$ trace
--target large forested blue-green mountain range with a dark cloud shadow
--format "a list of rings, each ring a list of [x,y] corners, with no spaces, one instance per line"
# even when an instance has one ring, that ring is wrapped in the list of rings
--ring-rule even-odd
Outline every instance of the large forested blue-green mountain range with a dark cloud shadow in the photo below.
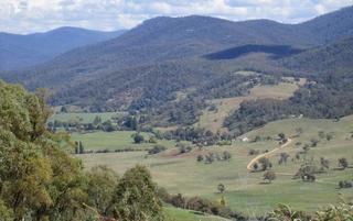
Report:
[[[55,104],[110,110],[135,101],[168,100],[175,91],[201,87],[239,69],[276,75],[320,73],[324,53],[330,53],[330,59],[340,59],[329,48],[351,45],[346,38],[352,36],[353,7],[300,24],[199,15],[156,18],[118,37],[0,76],[30,89],[53,89]],[[350,48],[341,46],[339,53],[350,55]],[[307,65],[298,67],[304,62]],[[352,64],[353,58],[345,56],[343,62]],[[331,71],[336,68],[329,65],[332,60],[324,64]]]

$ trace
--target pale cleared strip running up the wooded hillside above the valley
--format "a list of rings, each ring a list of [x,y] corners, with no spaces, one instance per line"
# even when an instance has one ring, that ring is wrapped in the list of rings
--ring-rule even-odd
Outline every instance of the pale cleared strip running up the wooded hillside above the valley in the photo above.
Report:
[[[208,100],[208,103],[215,104],[217,110],[204,110],[203,114],[200,117],[200,121],[195,125],[212,130],[213,132],[216,132],[217,130],[226,130],[222,128],[224,119],[231,112],[238,109],[243,101],[265,98],[288,99],[297,89],[297,84],[281,82],[274,86],[256,86],[250,90],[250,93],[245,97]]]

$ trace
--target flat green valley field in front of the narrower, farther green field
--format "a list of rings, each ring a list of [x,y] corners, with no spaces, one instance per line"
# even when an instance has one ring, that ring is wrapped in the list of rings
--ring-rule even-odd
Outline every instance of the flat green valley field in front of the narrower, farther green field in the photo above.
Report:
[[[135,144],[131,137],[135,131],[115,131],[115,132],[93,132],[93,133],[73,133],[73,141],[83,142],[86,151],[97,151],[97,150],[122,150],[122,148],[138,148],[147,150],[156,144],[152,143],[141,143]],[[145,140],[148,141],[151,137],[149,133],[141,133]],[[174,141],[158,141],[158,144],[162,144],[165,147],[174,147]]]

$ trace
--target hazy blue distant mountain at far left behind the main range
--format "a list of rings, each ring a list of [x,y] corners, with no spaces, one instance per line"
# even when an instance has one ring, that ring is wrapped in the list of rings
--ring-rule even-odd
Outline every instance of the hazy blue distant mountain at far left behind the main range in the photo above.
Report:
[[[44,63],[75,47],[107,41],[124,32],[99,32],[66,26],[26,35],[0,33],[0,70]]]

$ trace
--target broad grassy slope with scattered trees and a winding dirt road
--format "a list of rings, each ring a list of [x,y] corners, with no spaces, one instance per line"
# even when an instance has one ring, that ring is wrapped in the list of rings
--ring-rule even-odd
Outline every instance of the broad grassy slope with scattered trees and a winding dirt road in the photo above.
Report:
[[[255,136],[277,137],[281,132],[295,135],[298,128],[301,128],[302,133],[284,150],[290,155],[290,159],[296,153],[302,151],[300,146],[310,143],[312,139],[318,139],[319,144],[310,148],[306,158],[313,157],[314,162],[319,162],[322,156],[330,159],[331,169],[327,174],[318,175],[313,184],[292,179],[292,175],[303,163],[303,157],[299,161],[288,161],[286,165],[278,165],[279,153],[276,153],[270,161],[274,164],[277,179],[270,185],[263,184],[263,173],[249,173],[246,169],[247,163],[254,157],[248,155],[248,151],[250,148],[260,152],[274,150],[279,146],[275,140],[256,143],[236,141],[232,146],[195,148],[183,155],[179,155],[174,148],[171,148],[148,157],[143,152],[85,154],[79,157],[87,168],[104,164],[118,173],[124,173],[136,164],[146,165],[151,170],[153,179],[172,194],[181,192],[185,196],[220,200],[221,195],[216,192],[216,187],[222,183],[226,187],[224,196],[227,205],[252,217],[265,214],[278,203],[289,203],[295,209],[312,211],[335,203],[341,197],[353,199],[351,189],[338,189],[339,180],[352,179],[353,169],[334,169],[339,157],[346,157],[350,163],[353,163],[353,117],[341,119],[339,122],[304,118],[281,120],[252,131],[246,136],[249,139]],[[333,139],[331,141],[320,139],[320,131],[333,134]],[[301,143],[300,146],[296,145],[298,142]],[[199,154],[222,153],[225,150],[232,153],[229,162],[213,164],[196,162]]]

